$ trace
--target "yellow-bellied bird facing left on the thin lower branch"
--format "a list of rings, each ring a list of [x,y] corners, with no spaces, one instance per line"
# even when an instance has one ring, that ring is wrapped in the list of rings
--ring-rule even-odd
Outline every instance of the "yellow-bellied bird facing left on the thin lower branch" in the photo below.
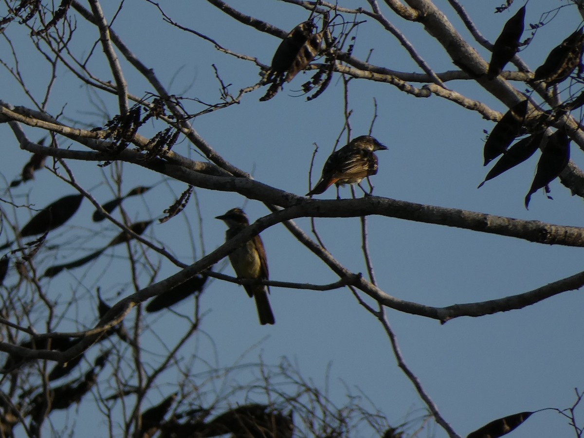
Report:
[[[232,208],[215,219],[221,219],[227,225],[226,240],[235,237],[249,226],[248,216],[238,207]],[[229,255],[229,261],[239,279],[267,280],[266,250],[259,235],[253,236],[244,245],[235,248]],[[269,287],[263,284],[245,284],[244,288],[250,298],[255,298],[259,323],[261,325],[274,324],[274,314],[267,298]]]

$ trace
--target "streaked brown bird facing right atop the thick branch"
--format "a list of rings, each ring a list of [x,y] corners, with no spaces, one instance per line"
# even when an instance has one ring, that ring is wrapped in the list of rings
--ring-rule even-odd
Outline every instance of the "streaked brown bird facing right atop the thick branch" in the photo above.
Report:
[[[374,154],[374,151],[385,150],[387,147],[371,135],[353,138],[349,144],[333,152],[326,160],[324,168],[322,168],[321,180],[306,196],[321,194],[335,184],[339,199],[339,186],[357,184],[361,187],[360,182],[363,178],[369,180],[371,175],[377,173],[377,155]],[[369,193],[363,187],[361,190],[366,194],[371,194],[373,186],[371,183],[369,186],[371,188]]]

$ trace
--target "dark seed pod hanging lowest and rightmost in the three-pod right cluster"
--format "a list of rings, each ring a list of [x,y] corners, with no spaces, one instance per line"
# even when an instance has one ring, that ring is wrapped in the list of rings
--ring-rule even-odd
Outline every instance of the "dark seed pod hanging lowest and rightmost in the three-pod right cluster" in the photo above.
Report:
[[[570,139],[566,130],[562,128],[548,137],[540,161],[537,162],[536,176],[534,176],[529,193],[525,197],[525,208],[529,209],[531,195],[556,179],[568,165],[569,159]]]

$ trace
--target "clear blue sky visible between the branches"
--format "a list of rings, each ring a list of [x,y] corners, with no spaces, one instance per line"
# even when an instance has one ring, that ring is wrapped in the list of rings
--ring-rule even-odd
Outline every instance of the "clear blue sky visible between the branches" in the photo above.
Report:
[[[134,3],[124,6],[113,29],[144,64],[154,69],[172,93],[216,102],[219,85],[211,64],[217,66],[226,84],[232,84],[230,90],[234,93],[258,81],[258,68],[251,62],[220,53],[210,43],[163,23],[159,13],[147,2]],[[281,2],[240,0],[230,3],[286,30],[308,15],[300,8]],[[511,13],[522,5],[519,0],[515,3],[517,5],[513,4]],[[554,2],[554,5],[556,3],[566,2]],[[447,2],[436,1],[436,4],[461,29],[460,20]],[[548,4],[531,0],[527,6],[526,22],[537,22]],[[357,1],[347,1],[343,5],[367,7],[366,2]],[[492,13],[495,6],[499,6],[498,2],[465,6],[490,41],[496,39],[503,23],[510,17],[508,12]],[[103,7],[110,18],[113,9]],[[207,34],[231,50],[258,57],[264,64],[269,64],[280,42],[235,22],[205,2],[175,0],[163,7],[181,25]],[[416,23],[404,25],[388,11],[387,15],[403,30],[434,71],[456,69],[443,48],[433,43],[421,26]],[[552,47],[576,29],[579,20],[574,8],[562,9],[550,25],[538,31],[533,43],[522,52],[523,59],[532,69],[536,68]],[[19,53],[25,53],[22,50],[26,50],[27,44],[28,50],[32,50],[30,43],[22,40],[26,36],[23,29],[11,25],[9,30]],[[80,19],[77,32],[80,36],[74,40],[74,48],[77,53],[86,54],[97,39],[96,31],[85,26]],[[467,36],[464,29],[461,32]],[[527,36],[529,32],[524,33],[524,38]],[[473,45],[489,58],[484,48],[478,47],[477,43]],[[396,41],[369,20],[359,26],[354,55],[363,59],[372,47],[371,63],[399,71],[419,71]],[[6,42],[0,46],[0,53],[0,58],[8,62],[10,55]],[[21,61],[20,67],[30,91],[34,95],[44,92],[46,76],[39,75],[38,71],[44,72],[46,64],[39,68],[43,61],[36,57],[36,53],[30,58],[21,58]],[[96,74],[110,79],[100,47],[96,48],[89,65]],[[141,96],[151,91],[150,86],[125,62],[123,67],[131,93]],[[5,86],[2,100],[12,105],[30,106],[22,90],[13,85],[6,69],[0,70],[0,78],[4,84],[9,84]],[[343,87],[338,75],[325,93],[312,102],[295,97],[298,93],[294,92],[308,78],[308,74],[298,75],[269,102],[258,102],[264,89],[249,93],[239,105],[193,120],[193,127],[224,158],[252,172],[256,180],[291,193],[304,194],[308,190],[308,169],[314,144],[319,150],[313,183],[343,126]],[[492,109],[506,111],[502,103],[496,102],[478,85],[465,82],[471,81],[454,81],[447,85]],[[517,87],[524,89],[521,84]],[[89,103],[90,99],[93,104]],[[377,196],[584,226],[582,199],[570,196],[557,181],[551,184],[554,200],[546,199],[540,190],[533,195],[530,210],[524,208],[523,197],[531,184],[537,156],[477,190],[488,171],[482,166],[483,130],[490,131],[494,124],[482,119],[478,113],[444,99],[436,96],[413,98],[390,85],[353,80],[349,98],[353,110],[350,119],[353,137],[369,130],[374,99],[378,117],[373,135],[389,148],[378,153],[380,170],[372,178]],[[66,105],[65,114],[79,121],[79,126],[103,126],[103,114],[98,111],[102,104],[96,103],[99,100],[106,105],[107,116],[116,113],[116,100],[112,96],[103,93],[92,96],[86,88],[74,82],[70,73],[62,71],[48,110],[56,114]],[[185,106],[193,112],[201,109],[194,102],[185,102]],[[67,119],[64,120],[67,123]],[[16,178],[28,155],[18,149],[8,126],[0,126],[0,129],[5,138],[5,159],[0,162],[0,172],[10,181]],[[144,135],[148,129],[145,127]],[[41,131],[33,128],[26,128],[26,131],[30,140],[43,136]],[[81,148],[69,141],[61,143],[61,147],[69,145]],[[187,141],[176,144],[174,150],[199,159]],[[581,151],[575,144],[572,144],[572,159],[576,164],[583,162]],[[109,178],[111,168],[102,169],[84,162],[72,162],[71,167],[84,187],[95,187],[92,194],[98,200],[105,202],[112,197],[105,185],[97,186]],[[137,185],[155,185],[162,180],[144,169],[127,164],[123,167],[126,192]],[[162,210],[172,204],[173,194],[178,195],[184,189],[185,185],[178,182],[158,184],[143,198],[127,200],[127,211],[135,220],[160,217]],[[42,207],[71,192],[70,187],[56,180],[48,171],[41,171],[34,183],[19,187],[13,194],[27,194],[30,201]],[[346,197],[348,193],[347,189],[342,190],[342,196]],[[232,207],[243,206],[245,202],[238,194],[203,189],[196,189],[196,196],[203,217],[201,230],[196,220],[196,205],[191,201],[185,210],[190,224],[185,218],[176,217],[165,224],[153,225],[147,232],[150,237],[164,242],[164,246],[185,263],[194,262],[203,253],[199,233],[203,235],[207,253],[223,243],[225,225],[214,217]],[[329,189],[317,197],[333,199],[335,191]],[[17,214],[23,224],[27,213],[22,210]],[[257,201],[249,201],[245,210],[252,220],[269,213]],[[72,242],[74,251],[40,254],[37,263],[45,267],[54,258],[59,262],[78,258],[117,234],[118,231],[107,223],[89,223],[92,211],[93,208],[85,202],[67,228],[67,234],[55,232],[55,242]],[[298,220],[297,223],[310,232],[308,220]],[[327,248],[340,262],[353,272],[365,272],[357,218],[317,219],[316,224]],[[192,230],[194,250],[187,226],[195,227]],[[395,218],[370,217],[369,236],[378,285],[392,296],[437,307],[519,294],[582,270],[580,248],[544,246]],[[262,239],[273,280],[322,284],[337,280],[282,225],[263,232]],[[109,250],[105,262],[91,265],[86,272],[60,274],[46,284],[47,290],[51,298],[60,297],[58,299],[62,301],[72,296],[79,298],[87,307],[79,305],[76,315],[84,321],[91,321],[95,317],[91,297],[96,287],[102,288],[102,295],[109,299],[110,304],[115,302],[117,293],[121,296],[131,293],[123,258],[121,246]],[[164,262],[158,279],[176,271],[176,267]],[[231,267],[225,267],[223,272],[232,274]],[[141,281],[145,280],[144,276]],[[203,311],[207,312],[201,326],[203,332],[187,347],[200,357],[193,366],[203,370],[206,360],[213,364],[216,360],[218,366],[230,366],[258,361],[259,357],[267,364],[277,364],[281,357],[286,356],[298,364],[305,377],[324,387],[326,370],[331,364],[329,391],[339,404],[343,402],[347,385],[352,392],[366,394],[393,425],[403,422],[409,412],[423,407],[412,385],[396,366],[381,325],[357,304],[349,290],[318,292],[273,287],[270,300],[276,325],[259,326],[253,301],[248,300],[242,287],[213,281],[201,298]],[[387,314],[406,363],[444,418],[465,436],[500,416],[571,406],[575,400],[573,388],[582,387],[584,357],[579,335],[582,304],[580,292],[571,291],[523,310],[481,318],[458,318],[445,325],[391,309]],[[193,300],[185,301],[174,310],[192,314]],[[165,339],[171,342],[176,338],[182,322],[172,312],[148,315],[147,318],[151,332],[144,333],[144,348],[156,354]],[[66,325],[67,321],[63,324]],[[161,397],[173,392],[172,383],[176,380],[172,378],[168,388],[162,387]],[[158,400],[150,401],[154,404]],[[98,420],[95,436],[102,436],[99,431],[105,425],[99,423],[99,419],[91,419],[94,420]],[[364,436],[369,436],[367,433],[370,432],[364,433]],[[572,434],[565,418],[547,411],[530,418],[513,432],[513,437],[567,437]],[[441,429],[436,429],[436,436],[446,435]]]

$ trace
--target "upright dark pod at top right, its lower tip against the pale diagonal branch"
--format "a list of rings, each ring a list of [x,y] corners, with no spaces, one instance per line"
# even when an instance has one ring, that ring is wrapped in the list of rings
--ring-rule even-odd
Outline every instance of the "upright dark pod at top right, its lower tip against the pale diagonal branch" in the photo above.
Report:
[[[525,5],[505,23],[503,30],[493,44],[491,62],[489,62],[489,69],[486,73],[489,80],[496,78],[507,62],[519,51],[524,18]]]

